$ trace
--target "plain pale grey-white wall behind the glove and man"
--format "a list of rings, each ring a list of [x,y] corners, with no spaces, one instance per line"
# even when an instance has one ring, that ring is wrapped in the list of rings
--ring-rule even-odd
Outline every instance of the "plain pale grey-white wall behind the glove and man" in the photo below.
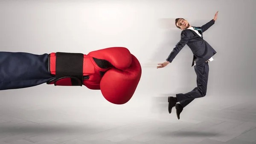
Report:
[[[253,95],[255,6],[255,0],[1,0],[0,51],[87,54],[124,46],[143,66],[137,94],[185,93],[196,86],[188,46],[173,63],[156,69],[180,39],[174,20],[183,17],[192,26],[202,26],[219,11],[215,25],[204,33],[217,51],[209,63],[208,95]],[[2,91],[1,95],[31,92],[100,95],[85,86],[46,84]]]

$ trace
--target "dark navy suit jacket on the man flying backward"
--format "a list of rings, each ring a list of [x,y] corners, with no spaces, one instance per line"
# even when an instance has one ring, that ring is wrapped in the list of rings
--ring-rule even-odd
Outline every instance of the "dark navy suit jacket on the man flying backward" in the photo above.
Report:
[[[172,60],[185,45],[188,45],[192,53],[194,54],[192,66],[194,66],[194,61],[196,65],[200,65],[205,61],[209,60],[209,58],[211,58],[217,52],[212,48],[212,46],[209,45],[209,43],[207,43],[207,41],[203,39],[203,32],[209,29],[209,27],[211,27],[214,23],[215,21],[212,19],[203,26],[196,27],[202,29],[202,32],[198,31],[202,35],[202,37],[200,37],[191,29],[184,29],[180,34],[180,41],[176,44],[175,48],[172,50],[166,60],[172,63]]]

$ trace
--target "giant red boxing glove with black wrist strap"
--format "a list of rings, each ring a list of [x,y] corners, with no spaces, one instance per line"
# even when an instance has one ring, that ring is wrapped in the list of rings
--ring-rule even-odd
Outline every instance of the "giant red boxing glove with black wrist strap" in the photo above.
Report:
[[[47,84],[87,86],[100,89],[113,104],[125,104],[133,96],[141,77],[141,65],[124,47],[111,47],[88,53],[51,53],[49,72],[55,75]]]

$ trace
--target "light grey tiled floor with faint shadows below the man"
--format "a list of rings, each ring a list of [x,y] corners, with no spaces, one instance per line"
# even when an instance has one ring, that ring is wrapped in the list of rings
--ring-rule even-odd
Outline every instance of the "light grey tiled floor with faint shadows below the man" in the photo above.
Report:
[[[177,120],[161,95],[137,92],[129,103],[113,105],[99,91],[82,96],[45,88],[63,90],[52,95],[40,88],[0,92],[0,144],[256,144],[253,96],[207,95]]]

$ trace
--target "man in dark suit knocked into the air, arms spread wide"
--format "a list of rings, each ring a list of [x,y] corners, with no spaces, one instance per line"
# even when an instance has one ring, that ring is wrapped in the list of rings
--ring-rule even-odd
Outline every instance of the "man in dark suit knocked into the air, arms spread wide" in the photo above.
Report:
[[[203,33],[215,23],[217,15],[218,12],[215,13],[212,20],[201,27],[191,26],[187,20],[176,18],[175,25],[182,30],[180,41],[176,44],[169,57],[166,59],[166,62],[159,63],[159,66],[157,66],[158,69],[172,63],[173,59],[185,45],[189,46],[193,53],[192,66],[194,66],[197,75],[197,87],[191,92],[179,93],[176,94],[176,97],[168,97],[168,111],[171,113],[172,107],[175,107],[178,119],[180,119],[180,113],[184,107],[191,103],[195,98],[202,98],[206,95],[209,73],[208,62],[213,60],[212,56],[217,52],[204,40]],[[180,104],[178,104],[178,102]]]

